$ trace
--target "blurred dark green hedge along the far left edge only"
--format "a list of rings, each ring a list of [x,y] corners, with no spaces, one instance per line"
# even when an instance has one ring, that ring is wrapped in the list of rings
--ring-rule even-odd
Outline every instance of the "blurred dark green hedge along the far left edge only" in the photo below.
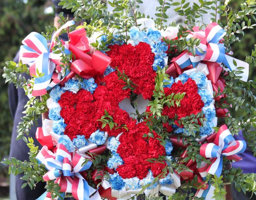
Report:
[[[49,2],[47,3],[49,5]],[[44,14],[45,0],[1,0],[0,1],[0,159],[8,156],[12,133],[12,118],[8,106],[8,87],[4,84],[3,66],[12,60],[21,41],[32,31],[41,32],[46,25],[53,23],[53,14]],[[16,76],[12,74],[12,76]],[[16,76],[20,81],[22,78]],[[0,176],[5,176],[1,168]]]

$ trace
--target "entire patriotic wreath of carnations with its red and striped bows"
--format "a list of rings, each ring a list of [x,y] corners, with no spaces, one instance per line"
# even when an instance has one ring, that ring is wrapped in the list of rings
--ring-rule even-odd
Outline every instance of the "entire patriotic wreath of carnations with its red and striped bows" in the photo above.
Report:
[[[191,45],[170,52],[166,44],[179,40],[177,27],[159,31],[143,18],[138,24],[126,27],[126,36],[93,31],[99,37],[88,38],[84,27],[94,27],[70,32],[69,21],[49,47],[35,32],[22,41],[20,58],[32,76],[26,89],[47,99],[48,108],[36,132],[43,147],[31,151],[37,152],[33,162],[44,167],[44,181],[60,188],[40,199],[66,193],[79,200],[172,196],[186,182],[198,189],[196,197],[207,197],[214,188],[209,178],[220,177],[224,162],[240,160],[236,154],[246,143],[226,125],[216,127],[216,116],[228,116],[221,107],[222,72],[241,69],[234,80],[248,77],[248,64],[226,54],[226,32],[217,23],[194,27],[182,41]],[[59,41],[67,28],[69,41]],[[142,113],[134,102],[139,95],[149,101]],[[133,117],[120,106],[126,98]]]

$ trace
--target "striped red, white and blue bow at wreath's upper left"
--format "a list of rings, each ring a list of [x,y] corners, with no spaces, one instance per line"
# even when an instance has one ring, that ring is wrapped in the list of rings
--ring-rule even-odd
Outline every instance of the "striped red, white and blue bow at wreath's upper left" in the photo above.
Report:
[[[54,46],[55,38],[60,32],[72,25],[74,25],[73,20],[58,29],[52,36],[49,48],[46,38],[37,32],[30,33],[22,40],[24,45],[20,47],[20,60],[22,60],[23,64],[30,66],[30,76],[35,77],[33,96],[46,94],[47,90],[60,83],[62,76],[65,76],[64,70],[61,67],[57,68],[55,72],[56,65],[60,64],[62,54],[54,54],[52,47]],[[65,49],[65,53],[70,54],[68,48]],[[43,76],[38,77],[42,73]]]

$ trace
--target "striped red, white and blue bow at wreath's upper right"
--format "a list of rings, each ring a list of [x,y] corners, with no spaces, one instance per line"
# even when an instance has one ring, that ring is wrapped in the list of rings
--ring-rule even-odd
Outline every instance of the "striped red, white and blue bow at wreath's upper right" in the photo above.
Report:
[[[185,51],[178,57],[173,59],[173,62],[178,64],[180,68],[186,68],[190,65],[196,67],[202,60],[210,62],[223,63],[228,69],[236,70],[236,67],[244,67],[244,73],[240,74],[242,80],[247,81],[249,73],[249,64],[232,58],[226,54],[224,44],[221,43],[223,36],[226,35],[226,31],[223,30],[216,22],[213,22],[206,26],[204,31],[199,30],[199,27],[193,28],[194,32],[190,32],[187,36],[187,40],[190,38],[200,39],[200,44],[196,46],[196,55],[193,56],[192,52]],[[233,59],[236,60],[237,66],[234,65]]]

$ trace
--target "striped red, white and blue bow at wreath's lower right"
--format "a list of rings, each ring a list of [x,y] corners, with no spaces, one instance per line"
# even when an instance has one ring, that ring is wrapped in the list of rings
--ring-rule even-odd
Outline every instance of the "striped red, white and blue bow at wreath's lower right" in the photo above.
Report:
[[[216,174],[219,177],[222,172],[222,157],[226,156],[228,160],[240,160],[241,158],[236,154],[245,151],[246,142],[244,140],[235,140],[226,125],[222,125],[218,133],[209,137],[212,141],[211,143],[202,144],[200,155],[204,158],[210,158],[212,162],[206,172]]]

